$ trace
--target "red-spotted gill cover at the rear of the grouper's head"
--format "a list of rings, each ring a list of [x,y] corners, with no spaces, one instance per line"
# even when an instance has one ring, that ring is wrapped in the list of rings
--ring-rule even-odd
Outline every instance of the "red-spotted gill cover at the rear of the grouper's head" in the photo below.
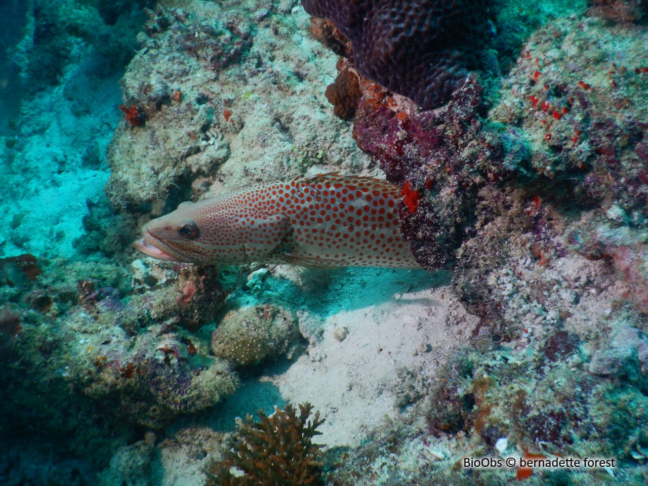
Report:
[[[258,214],[240,220],[235,227],[246,262],[257,262],[284,244],[290,235],[290,218],[285,214]]]

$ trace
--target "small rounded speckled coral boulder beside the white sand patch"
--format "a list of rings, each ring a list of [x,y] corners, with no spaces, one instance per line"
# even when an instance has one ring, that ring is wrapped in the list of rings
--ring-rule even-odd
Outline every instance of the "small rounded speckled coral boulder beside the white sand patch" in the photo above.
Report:
[[[234,365],[249,365],[292,349],[299,336],[289,308],[266,304],[232,310],[214,330],[211,348]]]

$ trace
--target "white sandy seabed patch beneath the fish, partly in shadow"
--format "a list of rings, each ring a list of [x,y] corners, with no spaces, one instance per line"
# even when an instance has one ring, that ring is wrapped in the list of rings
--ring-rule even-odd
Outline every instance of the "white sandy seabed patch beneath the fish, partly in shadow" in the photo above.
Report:
[[[264,283],[268,290],[294,275],[282,266],[273,272]],[[275,404],[310,402],[325,419],[316,442],[327,448],[360,445],[410,413],[437,367],[467,343],[478,323],[449,280],[445,272],[423,270],[337,271],[326,292],[311,291],[317,304],[299,311],[300,330],[310,336],[305,352],[243,376],[241,388],[202,425],[183,420],[167,428],[178,442],[160,449],[163,483],[202,484],[205,459],[196,460],[197,437],[204,435],[206,445],[211,430],[232,430],[235,417],[254,415],[261,406],[269,413]]]

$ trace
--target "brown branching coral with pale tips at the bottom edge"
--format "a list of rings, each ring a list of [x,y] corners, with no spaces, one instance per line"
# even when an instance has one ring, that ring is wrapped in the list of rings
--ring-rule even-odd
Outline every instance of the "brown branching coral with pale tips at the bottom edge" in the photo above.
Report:
[[[245,421],[239,420],[224,459],[208,467],[205,486],[323,485],[321,445],[313,444],[312,438],[321,434],[316,429],[324,420],[316,412],[309,421],[311,411],[309,403],[299,405],[297,417],[288,404],[284,410],[275,407],[270,417],[261,409],[260,422],[249,414]]]

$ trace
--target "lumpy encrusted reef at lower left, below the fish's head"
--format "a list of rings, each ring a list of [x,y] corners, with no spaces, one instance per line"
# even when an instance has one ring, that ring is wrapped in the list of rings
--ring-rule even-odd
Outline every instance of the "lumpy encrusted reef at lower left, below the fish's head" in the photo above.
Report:
[[[123,271],[96,263],[66,264],[64,281],[48,267],[21,286],[0,288],[16,301],[3,307],[4,356],[21,362],[46,395],[65,384],[58,400],[82,394],[103,413],[152,427],[222,400],[237,377],[189,332],[222,305],[217,277],[197,268],[140,268],[147,275],[135,281],[134,294],[111,286],[128,282]]]

